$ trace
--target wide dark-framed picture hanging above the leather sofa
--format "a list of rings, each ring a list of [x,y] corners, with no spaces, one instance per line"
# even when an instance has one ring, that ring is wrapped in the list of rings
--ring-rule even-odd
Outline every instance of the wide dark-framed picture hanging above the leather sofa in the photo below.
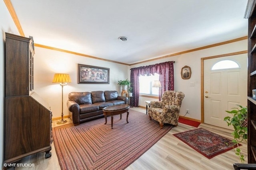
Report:
[[[78,84],[109,84],[109,68],[78,64]]]

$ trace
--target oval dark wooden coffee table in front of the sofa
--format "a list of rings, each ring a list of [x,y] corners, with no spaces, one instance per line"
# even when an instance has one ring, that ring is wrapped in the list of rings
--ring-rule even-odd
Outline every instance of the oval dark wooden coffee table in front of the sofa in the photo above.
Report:
[[[115,106],[108,106],[103,108],[103,115],[105,117],[105,125],[107,124],[107,116],[111,116],[111,129],[113,129],[113,115],[120,115],[120,119],[122,119],[122,113],[127,112],[126,121],[128,122],[128,115],[129,115],[129,108],[128,104],[120,104]]]

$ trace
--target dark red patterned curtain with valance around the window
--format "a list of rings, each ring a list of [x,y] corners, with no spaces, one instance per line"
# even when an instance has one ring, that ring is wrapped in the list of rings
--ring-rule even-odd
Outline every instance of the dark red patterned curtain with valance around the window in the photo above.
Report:
[[[162,85],[161,92],[159,92],[159,99],[161,98],[162,92],[166,90],[174,90],[174,69],[173,64],[175,61],[167,61],[164,63],[158,63],[148,66],[141,66],[131,69],[131,83],[133,87],[133,100],[130,105],[138,107],[139,104],[139,75],[150,75],[154,73],[159,74],[159,81]]]

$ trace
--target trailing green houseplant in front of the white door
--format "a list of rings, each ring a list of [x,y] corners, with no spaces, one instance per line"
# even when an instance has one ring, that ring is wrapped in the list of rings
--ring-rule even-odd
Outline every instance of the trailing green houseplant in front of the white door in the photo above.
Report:
[[[232,111],[226,111],[233,115],[233,117],[225,117],[224,121],[228,123],[228,126],[232,125],[234,127],[234,131],[231,133],[233,135],[234,139],[232,142],[234,145],[237,145],[237,148],[235,150],[235,154],[240,158],[240,163],[244,162],[244,155],[241,154],[241,150],[239,148],[239,143],[244,141],[247,143],[247,107],[242,107],[240,105],[237,105],[240,108],[232,108],[234,110]]]

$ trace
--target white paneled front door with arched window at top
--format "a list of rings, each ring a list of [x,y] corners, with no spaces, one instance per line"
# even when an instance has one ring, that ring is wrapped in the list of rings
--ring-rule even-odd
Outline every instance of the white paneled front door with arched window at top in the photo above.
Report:
[[[239,68],[212,70],[224,60],[235,61]],[[204,123],[233,129],[224,117],[236,105],[247,106],[247,54],[204,60]]]

